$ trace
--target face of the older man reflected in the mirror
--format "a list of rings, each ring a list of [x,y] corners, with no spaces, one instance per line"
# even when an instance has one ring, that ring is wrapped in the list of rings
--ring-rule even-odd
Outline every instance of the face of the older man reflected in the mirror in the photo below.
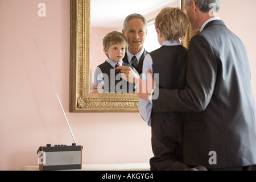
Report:
[[[128,50],[133,55],[141,51],[147,35],[143,20],[138,18],[129,20],[126,31],[123,31],[123,35],[127,39]]]

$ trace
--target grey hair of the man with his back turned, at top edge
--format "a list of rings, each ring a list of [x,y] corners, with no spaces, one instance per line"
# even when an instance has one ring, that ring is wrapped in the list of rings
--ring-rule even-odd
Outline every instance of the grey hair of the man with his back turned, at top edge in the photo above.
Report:
[[[214,13],[218,13],[221,6],[221,0],[193,0],[196,3],[196,6],[202,13],[209,13],[210,10],[213,10]],[[190,6],[191,0],[185,0],[185,3]]]

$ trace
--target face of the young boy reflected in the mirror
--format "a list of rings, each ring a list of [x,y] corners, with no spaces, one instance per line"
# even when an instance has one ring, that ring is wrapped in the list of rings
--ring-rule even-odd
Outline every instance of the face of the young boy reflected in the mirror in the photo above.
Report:
[[[125,56],[125,45],[123,44],[113,44],[108,50],[104,48],[104,52],[109,55],[109,59],[118,63]]]

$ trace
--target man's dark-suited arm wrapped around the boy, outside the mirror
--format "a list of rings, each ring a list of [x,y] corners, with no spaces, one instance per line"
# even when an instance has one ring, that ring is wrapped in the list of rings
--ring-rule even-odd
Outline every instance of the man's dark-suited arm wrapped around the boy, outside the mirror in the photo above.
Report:
[[[152,100],[152,110],[203,111],[212,98],[216,77],[217,63],[212,47],[203,36],[194,36],[189,44],[185,88],[159,89],[158,98]],[[147,84],[152,84],[149,81]]]

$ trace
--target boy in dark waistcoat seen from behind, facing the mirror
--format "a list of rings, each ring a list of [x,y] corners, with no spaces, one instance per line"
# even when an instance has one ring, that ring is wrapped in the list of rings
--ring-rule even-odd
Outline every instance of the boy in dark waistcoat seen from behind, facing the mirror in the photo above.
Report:
[[[188,17],[177,8],[166,7],[155,18],[158,42],[162,47],[149,53],[143,64],[142,80],[147,80],[147,69],[159,74],[159,88],[181,89],[185,85],[187,49],[180,43],[188,29]],[[177,171],[188,167],[182,163],[184,113],[151,113],[152,104],[139,99],[139,111],[151,126],[154,157],[151,170]],[[195,169],[197,170],[197,169]]]

